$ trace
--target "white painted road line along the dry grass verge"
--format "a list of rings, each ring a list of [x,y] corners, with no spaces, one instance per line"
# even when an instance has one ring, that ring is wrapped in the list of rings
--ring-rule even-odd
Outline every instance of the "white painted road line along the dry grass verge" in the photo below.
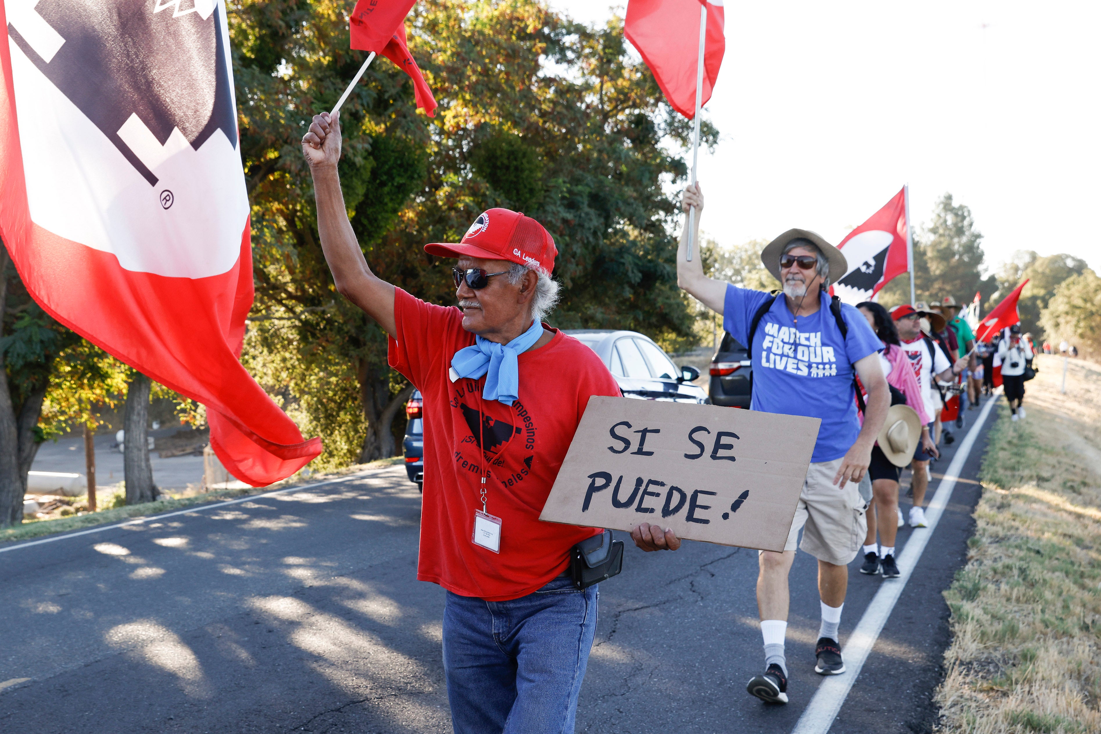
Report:
[[[872,651],[875,639],[883,631],[887,617],[891,616],[891,611],[898,601],[898,596],[902,595],[902,590],[906,587],[917,561],[922,558],[925,546],[928,545],[929,538],[937,529],[945,507],[951,500],[952,490],[956,489],[956,481],[960,478],[960,472],[963,471],[963,462],[971,454],[971,449],[979,438],[979,431],[982,430],[983,424],[986,423],[986,416],[990,415],[995,403],[998,401],[993,398],[986,401],[986,405],[979,413],[979,418],[971,426],[963,442],[960,443],[956,456],[952,457],[952,462],[940,480],[940,484],[937,485],[937,493],[933,496],[933,502],[929,503],[929,508],[925,512],[925,519],[929,527],[915,530],[909,536],[909,541],[906,543],[902,554],[898,555],[898,568],[902,570],[902,574],[896,580],[883,581],[883,585],[880,587],[868,609],[864,610],[864,615],[860,617],[857,628],[842,650],[846,671],[840,676],[830,676],[821,682],[803,715],[799,716],[795,728],[792,730],[792,734],[826,734],[833,725],[833,720],[841,710],[841,704],[844,703],[849,691],[852,690],[852,684],[857,682],[857,676],[864,667],[864,661],[868,660],[868,655]]]

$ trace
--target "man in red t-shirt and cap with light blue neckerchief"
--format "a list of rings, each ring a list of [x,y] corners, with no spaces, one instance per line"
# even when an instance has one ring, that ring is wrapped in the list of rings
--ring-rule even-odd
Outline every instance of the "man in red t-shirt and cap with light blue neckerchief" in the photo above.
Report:
[[[455,731],[573,732],[597,587],[565,572],[570,547],[600,530],[538,516],[589,397],[620,391],[591,349],[542,322],[557,300],[554,240],[530,217],[483,212],[460,243],[425,247],[458,258],[458,308],[427,304],[367,265],[340,193],[338,118],[314,117],[302,147],[336,287],[390,335],[390,364],[424,395],[417,578],[447,590]]]

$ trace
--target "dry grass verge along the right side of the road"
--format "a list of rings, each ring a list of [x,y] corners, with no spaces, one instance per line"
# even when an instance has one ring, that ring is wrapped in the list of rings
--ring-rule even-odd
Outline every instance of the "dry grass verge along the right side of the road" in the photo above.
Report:
[[[1101,732],[1101,366],[1039,358],[1000,406],[952,612],[941,732]]]

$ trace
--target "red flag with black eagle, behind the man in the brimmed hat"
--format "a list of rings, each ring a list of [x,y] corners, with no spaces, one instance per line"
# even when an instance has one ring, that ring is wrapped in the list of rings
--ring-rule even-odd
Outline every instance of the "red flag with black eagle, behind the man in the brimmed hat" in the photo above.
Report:
[[[833,282],[830,293],[837,293],[842,302],[855,306],[871,300],[893,277],[907,272],[906,232],[904,187],[837,245],[849,270]]]

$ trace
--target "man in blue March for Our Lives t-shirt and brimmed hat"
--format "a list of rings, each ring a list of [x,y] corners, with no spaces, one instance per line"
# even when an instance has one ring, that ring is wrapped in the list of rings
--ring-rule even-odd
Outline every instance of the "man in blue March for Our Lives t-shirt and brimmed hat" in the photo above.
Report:
[[[685,211],[691,206],[696,207],[695,241],[699,242],[704,196],[698,186],[685,191]],[[751,347],[751,408],[821,419],[784,552],[760,554],[756,591],[766,669],[750,681],[748,690],[765,701],[786,703],[787,576],[800,528],[799,547],[818,559],[822,616],[815,671],[844,671],[837,629],[848,585],[848,565],[857,557],[866,530],[866,503],[858,484],[871,463],[872,446],[891,403],[880,366],[883,342],[868,320],[848,305],[840,306],[848,332],[842,336],[826,288],[831,277],[844,274],[844,255],[814,232],[788,230],[761,253],[765,267],[784,286],[777,296],[706,276],[698,254],[691,262],[685,260],[687,237],[686,221],[677,251],[677,282],[722,315],[723,328],[731,337]],[[754,316],[762,309],[751,335]],[[855,375],[868,391],[863,426],[857,410]],[[655,549],[663,546],[657,535]]]

